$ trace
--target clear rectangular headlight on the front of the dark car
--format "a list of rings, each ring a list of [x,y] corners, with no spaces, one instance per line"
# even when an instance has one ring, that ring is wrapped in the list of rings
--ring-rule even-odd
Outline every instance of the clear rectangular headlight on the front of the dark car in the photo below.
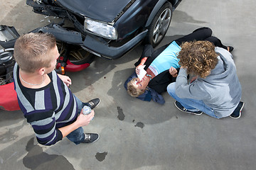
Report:
[[[85,31],[99,35],[101,37],[117,40],[117,30],[109,23],[103,23],[99,21],[91,20],[90,18],[85,18]]]

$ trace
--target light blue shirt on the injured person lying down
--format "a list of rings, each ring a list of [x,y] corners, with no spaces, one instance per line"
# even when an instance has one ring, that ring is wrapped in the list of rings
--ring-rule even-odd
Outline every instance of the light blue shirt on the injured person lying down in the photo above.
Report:
[[[180,51],[181,47],[175,41],[171,42],[171,44],[150,64],[149,69],[151,69],[155,75],[171,67],[178,69],[181,67],[178,64],[179,60],[177,58],[178,52]]]

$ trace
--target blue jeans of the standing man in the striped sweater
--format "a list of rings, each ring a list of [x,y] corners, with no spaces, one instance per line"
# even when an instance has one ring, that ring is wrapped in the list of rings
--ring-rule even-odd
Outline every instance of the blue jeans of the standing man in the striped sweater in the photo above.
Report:
[[[82,103],[82,101],[79,100],[74,94],[73,96],[75,97],[75,101],[78,106],[78,114],[80,114],[80,111],[82,111],[83,106],[89,106],[88,103]],[[70,134],[67,135],[68,140],[74,142],[76,145],[80,144],[83,140],[85,140],[85,133],[82,127],[74,130],[73,132],[70,132]]]

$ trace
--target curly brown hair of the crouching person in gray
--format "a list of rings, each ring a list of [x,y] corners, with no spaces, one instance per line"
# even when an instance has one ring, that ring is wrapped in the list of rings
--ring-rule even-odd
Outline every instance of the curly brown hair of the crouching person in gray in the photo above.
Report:
[[[196,74],[206,78],[210,70],[218,64],[215,46],[209,41],[184,42],[178,52],[178,64],[186,67],[188,74]]]

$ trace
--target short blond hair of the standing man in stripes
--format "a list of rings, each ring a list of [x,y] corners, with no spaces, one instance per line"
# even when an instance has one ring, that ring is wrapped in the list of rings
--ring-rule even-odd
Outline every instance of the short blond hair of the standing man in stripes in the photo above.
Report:
[[[21,35],[14,45],[14,58],[24,72],[33,73],[37,69],[50,67],[53,57],[49,53],[55,45],[56,40],[49,33]]]

